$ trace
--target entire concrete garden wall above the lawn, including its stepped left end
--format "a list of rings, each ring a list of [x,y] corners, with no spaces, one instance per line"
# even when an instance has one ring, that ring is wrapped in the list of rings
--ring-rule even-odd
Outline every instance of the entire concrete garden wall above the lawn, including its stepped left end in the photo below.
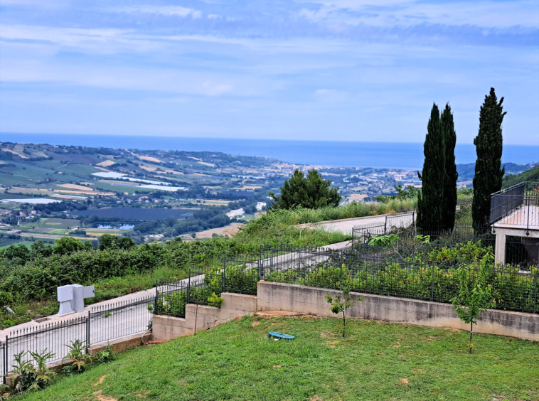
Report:
[[[257,296],[221,294],[223,304],[220,308],[188,304],[185,318],[155,315],[153,336],[157,341],[186,336],[195,331],[195,322],[197,330],[204,330],[257,311],[289,311],[335,317],[325,296],[339,293],[333,289],[261,281],[257,283]],[[459,319],[451,304],[354,292],[350,296],[356,300],[352,308],[346,311],[351,319],[469,330],[469,324]],[[357,301],[360,298],[363,301]],[[489,309],[474,325],[474,333],[539,341],[539,315]]]

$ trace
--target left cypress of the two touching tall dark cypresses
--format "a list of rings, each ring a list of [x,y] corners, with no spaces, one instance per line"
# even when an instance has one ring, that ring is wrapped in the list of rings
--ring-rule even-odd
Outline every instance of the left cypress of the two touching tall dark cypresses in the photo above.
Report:
[[[440,230],[444,218],[445,146],[439,110],[435,104],[427,124],[423,153],[423,170],[417,173],[422,181],[417,198],[417,225],[423,230]]]

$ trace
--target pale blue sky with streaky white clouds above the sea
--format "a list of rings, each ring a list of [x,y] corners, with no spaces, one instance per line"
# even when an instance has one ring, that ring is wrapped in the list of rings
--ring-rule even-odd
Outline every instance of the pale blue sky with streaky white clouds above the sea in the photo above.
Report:
[[[539,145],[539,1],[0,0],[0,132]]]

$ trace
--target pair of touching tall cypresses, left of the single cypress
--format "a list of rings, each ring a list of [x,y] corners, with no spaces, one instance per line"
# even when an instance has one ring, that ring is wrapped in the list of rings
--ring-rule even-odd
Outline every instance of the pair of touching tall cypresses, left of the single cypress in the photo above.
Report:
[[[432,105],[423,152],[422,191],[417,198],[417,225],[424,230],[452,230],[457,206],[457,135],[449,104],[440,115]]]

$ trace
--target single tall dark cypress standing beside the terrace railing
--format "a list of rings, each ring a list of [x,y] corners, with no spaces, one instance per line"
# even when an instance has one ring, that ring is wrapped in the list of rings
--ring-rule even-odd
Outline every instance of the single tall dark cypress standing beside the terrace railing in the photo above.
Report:
[[[479,133],[474,139],[477,160],[474,176],[474,199],[471,203],[471,217],[474,227],[489,224],[491,213],[491,193],[501,190],[501,181],[506,172],[501,168],[503,137],[501,123],[507,112],[503,112],[503,97],[498,102],[494,88],[485,96],[479,112]]]

